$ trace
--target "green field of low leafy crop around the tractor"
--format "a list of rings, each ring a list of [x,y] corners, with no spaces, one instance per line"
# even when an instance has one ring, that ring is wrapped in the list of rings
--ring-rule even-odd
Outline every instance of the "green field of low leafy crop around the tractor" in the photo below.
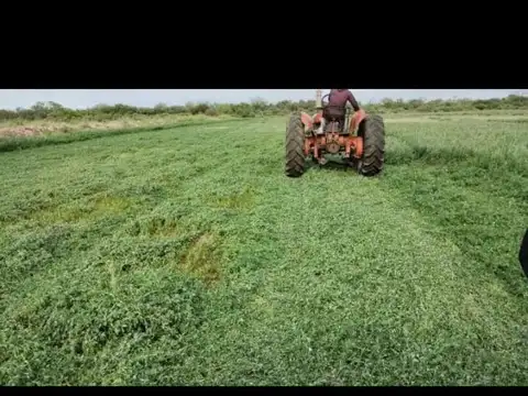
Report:
[[[286,120],[0,153],[0,383],[528,385],[527,119],[298,179]]]

